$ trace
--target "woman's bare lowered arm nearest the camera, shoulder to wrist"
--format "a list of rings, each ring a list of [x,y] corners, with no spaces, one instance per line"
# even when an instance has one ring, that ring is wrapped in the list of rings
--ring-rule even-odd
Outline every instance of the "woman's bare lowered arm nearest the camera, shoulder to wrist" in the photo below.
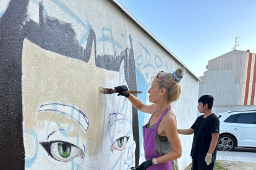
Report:
[[[156,158],[157,163],[164,163],[171,160],[176,160],[182,155],[181,140],[177,134],[177,124],[174,116],[166,115],[163,119],[164,132],[171,144],[171,152],[166,155]]]

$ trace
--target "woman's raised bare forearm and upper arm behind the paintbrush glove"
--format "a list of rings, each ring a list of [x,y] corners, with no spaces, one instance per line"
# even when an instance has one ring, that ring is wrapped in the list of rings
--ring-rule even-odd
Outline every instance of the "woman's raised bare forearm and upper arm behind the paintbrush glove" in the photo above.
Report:
[[[140,99],[135,97],[134,95],[130,94],[129,97],[127,97],[132,105],[137,108],[138,110],[145,112],[145,113],[150,113],[153,114],[153,112],[156,110],[156,104],[153,103],[151,105],[145,105]]]

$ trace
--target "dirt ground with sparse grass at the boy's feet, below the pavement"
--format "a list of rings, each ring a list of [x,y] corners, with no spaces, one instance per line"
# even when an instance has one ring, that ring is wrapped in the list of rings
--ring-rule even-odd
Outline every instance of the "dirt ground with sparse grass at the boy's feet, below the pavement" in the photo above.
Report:
[[[223,168],[220,170],[255,170],[256,163],[237,162],[237,161],[218,161],[221,163]],[[190,170],[191,166],[187,166],[184,170]],[[219,170],[219,169],[216,169]]]

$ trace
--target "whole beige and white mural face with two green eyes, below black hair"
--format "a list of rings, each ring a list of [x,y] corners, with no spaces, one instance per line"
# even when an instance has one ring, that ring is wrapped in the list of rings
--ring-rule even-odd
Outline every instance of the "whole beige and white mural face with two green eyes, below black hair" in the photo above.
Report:
[[[124,72],[103,72],[92,62],[74,60],[23,41],[25,168],[86,169],[95,155],[102,160],[108,157],[103,167],[109,169],[127,169],[134,164],[131,105],[116,95],[108,95],[104,102],[96,86],[108,84],[106,78],[118,78]],[[122,83],[126,83],[124,78]],[[106,105],[106,111],[96,105]],[[106,139],[104,130],[109,134]]]

